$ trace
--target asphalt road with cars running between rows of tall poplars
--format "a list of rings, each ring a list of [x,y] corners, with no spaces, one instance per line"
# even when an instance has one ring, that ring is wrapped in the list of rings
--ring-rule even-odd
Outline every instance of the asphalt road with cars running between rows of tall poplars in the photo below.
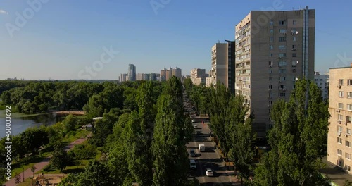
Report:
[[[232,171],[227,171],[225,163],[220,158],[219,151],[215,148],[215,143],[211,141],[208,128],[208,124],[202,124],[201,120],[197,120],[199,123],[192,123],[197,125],[198,128],[194,129],[194,140],[187,144],[187,151],[194,149],[196,157],[189,157],[190,159],[196,159],[196,170],[191,172],[191,176],[195,176],[199,180],[201,185],[211,186],[225,186],[232,185],[230,174]],[[197,131],[201,132],[197,134]],[[205,144],[206,151],[199,151],[199,144]],[[206,176],[206,168],[213,170],[214,176]]]

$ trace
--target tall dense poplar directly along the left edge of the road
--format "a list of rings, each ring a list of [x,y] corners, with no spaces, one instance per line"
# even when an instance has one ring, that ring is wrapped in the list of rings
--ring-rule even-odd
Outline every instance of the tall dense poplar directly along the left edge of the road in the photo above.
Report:
[[[162,94],[154,129],[153,185],[185,185],[189,166],[185,146],[184,116],[177,97]]]

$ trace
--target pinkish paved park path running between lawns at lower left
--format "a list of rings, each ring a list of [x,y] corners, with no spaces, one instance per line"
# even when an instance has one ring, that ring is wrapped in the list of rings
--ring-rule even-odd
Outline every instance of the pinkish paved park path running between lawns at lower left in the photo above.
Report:
[[[87,138],[80,138],[80,139],[77,139],[75,140],[75,142],[71,142],[70,144],[68,144],[66,147],[65,147],[65,150],[69,151],[70,149],[73,149],[73,147],[75,147],[76,144],[81,144],[82,142],[84,142],[85,140],[87,140]],[[34,174],[37,173],[38,171],[42,171],[42,169],[49,165],[49,162],[50,162],[50,159],[51,159],[51,156],[47,157],[46,159],[40,161],[39,163],[35,163],[34,166],[37,168],[35,171],[34,171]],[[27,178],[30,178],[32,175],[33,175],[33,172],[30,171],[30,168],[28,168],[27,170],[25,170],[24,172],[24,175],[25,175],[25,180]],[[20,173],[20,176],[21,176],[21,182],[23,182],[23,172]],[[15,186],[17,185],[15,183],[15,178],[11,178],[11,180],[9,180],[8,182],[5,183],[6,186]]]

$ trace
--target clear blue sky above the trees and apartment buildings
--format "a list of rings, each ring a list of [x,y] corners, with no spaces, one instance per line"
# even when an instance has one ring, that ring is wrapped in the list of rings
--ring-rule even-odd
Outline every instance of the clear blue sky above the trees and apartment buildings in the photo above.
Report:
[[[41,3],[30,6],[32,1]],[[234,39],[234,25],[249,11],[276,1],[2,0],[0,80],[117,80],[129,63],[137,73],[175,66],[182,75],[192,68],[208,71],[211,46]],[[352,62],[352,1],[279,2],[284,11],[315,9],[316,71]],[[153,9],[152,3],[161,6]],[[111,61],[95,62],[101,56]]]

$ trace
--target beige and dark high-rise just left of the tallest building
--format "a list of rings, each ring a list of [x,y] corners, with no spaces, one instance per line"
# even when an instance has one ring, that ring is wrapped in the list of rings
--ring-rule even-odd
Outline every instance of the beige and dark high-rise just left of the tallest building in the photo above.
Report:
[[[214,86],[222,82],[230,92],[234,93],[235,44],[218,42],[211,48],[211,78]],[[208,85],[209,86],[209,85]]]

